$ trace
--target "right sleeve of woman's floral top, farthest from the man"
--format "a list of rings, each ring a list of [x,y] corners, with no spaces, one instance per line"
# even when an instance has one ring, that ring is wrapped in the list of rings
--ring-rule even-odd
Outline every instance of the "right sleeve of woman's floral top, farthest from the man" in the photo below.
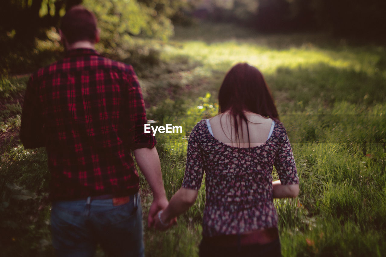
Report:
[[[282,144],[276,153],[274,165],[278,171],[282,185],[299,184],[298,172],[296,171],[295,159],[293,157],[291,144],[284,129],[282,132]]]

